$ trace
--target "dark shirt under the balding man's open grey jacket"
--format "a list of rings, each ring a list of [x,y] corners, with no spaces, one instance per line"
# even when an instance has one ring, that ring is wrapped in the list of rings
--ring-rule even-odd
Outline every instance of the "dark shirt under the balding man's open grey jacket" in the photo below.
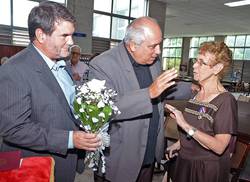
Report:
[[[129,55],[131,64],[134,68],[134,72],[139,82],[140,88],[143,89],[149,87],[153,82],[149,66],[138,64],[128,51],[127,53]],[[141,119],[150,118],[146,152],[144,155],[144,160],[142,165],[153,164],[155,160],[155,148],[157,142],[157,130],[159,125],[160,115],[157,102],[154,102],[152,100],[152,107],[153,107],[152,114],[139,117]]]

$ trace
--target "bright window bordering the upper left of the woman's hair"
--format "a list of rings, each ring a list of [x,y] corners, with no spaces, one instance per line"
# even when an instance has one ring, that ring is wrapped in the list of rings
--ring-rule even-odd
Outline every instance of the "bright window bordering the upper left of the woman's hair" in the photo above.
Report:
[[[214,37],[193,37],[190,42],[189,58],[196,58],[200,44],[207,41],[213,41]]]

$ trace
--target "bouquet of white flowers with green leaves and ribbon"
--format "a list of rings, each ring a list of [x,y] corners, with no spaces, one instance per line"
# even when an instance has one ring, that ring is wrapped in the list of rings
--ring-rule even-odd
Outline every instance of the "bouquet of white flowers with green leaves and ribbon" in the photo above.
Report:
[[[87,152],[86,161],[89,167],[97,170],[101,159],[101,171],[105,173],[105,157],[103,150],[110,145],[108,121],[112,116],[120,114],[114,100],[117,93],[105,87],[105,80],[93,79],[76,88],[74,100],[75,116],[87,132],[98,133],[102,145],[95,152]]]

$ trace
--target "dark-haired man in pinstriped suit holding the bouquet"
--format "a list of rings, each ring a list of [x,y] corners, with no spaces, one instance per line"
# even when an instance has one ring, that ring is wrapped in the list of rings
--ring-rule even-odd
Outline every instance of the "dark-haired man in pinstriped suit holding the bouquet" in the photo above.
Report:
[[[96,150],[96,134],[79,131],[72,113],[74,84],[65,63],[75,18],[61,4],[42,2],[28,18],[31,44],[0,68],[1,151],[52,156],[55,180],[73,182],[78,154]],[[63,77],[62,77],[63,76]],[[82,163],[83,167],[83,163]]]

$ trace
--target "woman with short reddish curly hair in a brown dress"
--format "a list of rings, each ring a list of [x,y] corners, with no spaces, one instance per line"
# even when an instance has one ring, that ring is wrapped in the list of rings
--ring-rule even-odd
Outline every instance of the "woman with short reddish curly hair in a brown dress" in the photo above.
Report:
[[[201,44],[193,65],[199,92],[182,113],[166,105],[176,119],[180,139],[167,148],[167,159],[178,151],[173,182],[229,181],[230,152],[237,130],[237,102],[221,84],[232,62],[223,42]]]

